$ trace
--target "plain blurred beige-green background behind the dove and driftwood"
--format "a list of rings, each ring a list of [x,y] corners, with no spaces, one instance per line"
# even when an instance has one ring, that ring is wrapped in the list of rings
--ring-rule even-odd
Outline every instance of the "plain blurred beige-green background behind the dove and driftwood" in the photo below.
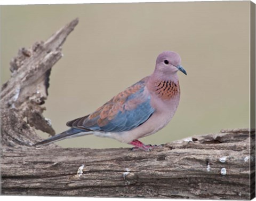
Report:
[[[181,100],[174,118],[141,139],[162,144],[222,128],[249,127],[250,2],[170,2],[2,6],[1,84],[21,47],[45,41],[79,18],[53,67],[44,116],[56,133],[150,75],[159,53],[178,52]],[[37,131],[43,138],[49,134]],[[131,147],[83,136],[62,147]]]

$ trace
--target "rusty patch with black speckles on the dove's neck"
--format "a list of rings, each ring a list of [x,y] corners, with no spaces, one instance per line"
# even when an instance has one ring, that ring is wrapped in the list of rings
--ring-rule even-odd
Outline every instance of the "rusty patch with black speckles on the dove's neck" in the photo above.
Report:
[[[179,94],[180,85],[172,81],[158,81],[155,83],[155,93],[159,98],[169,100]]]

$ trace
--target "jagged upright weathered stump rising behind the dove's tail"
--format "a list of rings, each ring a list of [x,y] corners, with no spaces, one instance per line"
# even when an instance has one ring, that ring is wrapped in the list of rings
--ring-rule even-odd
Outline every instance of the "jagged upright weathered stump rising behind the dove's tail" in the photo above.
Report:
[[[1,90],[2,144],[31,145],[31,137],[39,140],[31,127],[55,134],[50,120],[42,115],[42,104],[48,95],[51,68],[62,57],[62,44],[77,23],[78,19],[71,21],[46,42],[36,42],[30,49],[23,47],[11,60],[12,75]]]

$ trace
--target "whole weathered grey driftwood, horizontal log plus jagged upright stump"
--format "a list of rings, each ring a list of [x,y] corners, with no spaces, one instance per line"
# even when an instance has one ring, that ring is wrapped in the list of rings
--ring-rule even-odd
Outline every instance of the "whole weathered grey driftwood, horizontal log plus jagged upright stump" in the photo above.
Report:
[[[43,117],[49,76],[70,22],[46,42],[21,49],[1,92],[1,176],[4,195],[250,199],[255,195],[255,131],[222,130],[129,149],[36,148],[35,128],[54,135]]]

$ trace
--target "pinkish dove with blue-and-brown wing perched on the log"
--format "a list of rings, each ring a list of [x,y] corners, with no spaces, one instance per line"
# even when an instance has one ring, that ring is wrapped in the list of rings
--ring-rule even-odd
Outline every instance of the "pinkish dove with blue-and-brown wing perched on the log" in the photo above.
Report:
[[[67,131],[34,144],[93,134],[128,143],[134,149],[150,151],[154,146],[138,139],[156,133],[173,118],[180,101],[178,71],[187,75],[178,53],[158,55],[153,74],[118,93],[97,110],[67,122]]]

